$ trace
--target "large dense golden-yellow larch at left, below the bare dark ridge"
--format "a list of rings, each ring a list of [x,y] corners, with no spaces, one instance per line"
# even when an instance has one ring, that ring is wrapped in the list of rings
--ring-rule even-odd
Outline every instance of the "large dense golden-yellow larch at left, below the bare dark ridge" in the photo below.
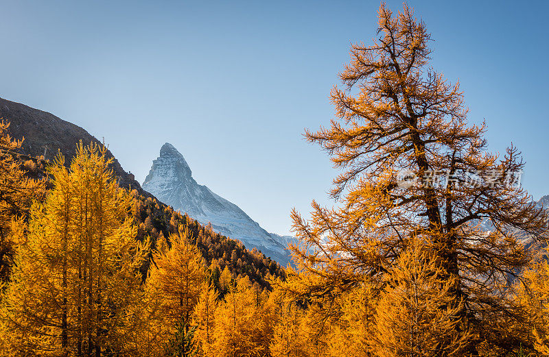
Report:
[[[78,146],[67,170],[49,169],[54,188],[31,210],[16,249],[0,317],[12,356],[136,355],[149,243],[127,218],[132,196],[108,168],[106,148]]]

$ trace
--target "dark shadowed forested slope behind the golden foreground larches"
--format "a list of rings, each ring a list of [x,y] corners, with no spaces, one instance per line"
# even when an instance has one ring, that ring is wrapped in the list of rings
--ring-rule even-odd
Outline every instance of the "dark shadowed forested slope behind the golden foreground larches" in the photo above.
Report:
[[[5,136],[6,132],[4,129],[3,138],[7,138]],[[43,156],[31,157],[20,153],[19,149],[16,148],[10,151],[9,155],[13,158],[14,165],[21,170],[21,177],[38,182],[42,180],[39,187],[42,187],[44,192],[37,190],[36,186],[32,189],[36,197],[42,198],[45,195],[45,190],[51,188],[46,171],[51,162]],[[76,152],[76,146],[73,151]],[[257,282],[262,288],[270,288],[267,280],[269,276],[283,276],[283,269],[280,265],[257,251],[257,249],[249,251],[242,242],[213,232],[211,227],[200,225],[198,221],[191,219],[187,214],[174,211],[172,207],[159,202],[152,195],[145,196],[136,189],[133,189],[131,193],[135,197],[135,204],[132,206],[132,210],[128,211],[128,215],[135,218],[138,226],[136,238],[143,241],[148,237],[152,242],[152,246],[155,247],[160,237],[161,240],[167,240],[169,245],[170,242],[167,237],[170,234],[176,233],[180,225],[188,227],[193,243],[200,249],[207,264],[211,265],[212,280],[215,284],[218,283],[220,273],[225,267],[229,269],[234,278],[246,275],[251,282]],[[17,207],[19,208],[17,213],[22,217],[26,217],[30,209],[30,201],[24,207],[21,207],[21,205]],[[10,212],[10,214],[14,215],[14,212]],[[4,255],[8,256],[10,253],[6,251]],[[143,277],[145,277],[148,270],[148,264],[146,262],[143,269],[141,269]]]

